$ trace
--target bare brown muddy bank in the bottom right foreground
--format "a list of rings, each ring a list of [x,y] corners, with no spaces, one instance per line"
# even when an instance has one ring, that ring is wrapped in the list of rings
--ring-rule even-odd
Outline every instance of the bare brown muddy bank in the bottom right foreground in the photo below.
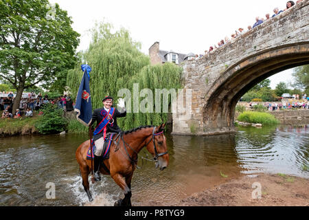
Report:
[[[253,188],[254,183],[261,186],[260,199],[253,199],[253,191],[258,190],[256,186]],[[194,193],[180,201],[179,206],[309,206],[309,179],[266,174],[244,176]]]

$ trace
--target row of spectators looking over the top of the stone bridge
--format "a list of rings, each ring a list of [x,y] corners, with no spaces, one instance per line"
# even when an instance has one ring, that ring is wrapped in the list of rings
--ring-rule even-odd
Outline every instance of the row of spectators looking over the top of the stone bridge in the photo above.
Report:
[[[303,1],[303,0],[298,0],[298,1],[296,1],[296,3],[300,3],[301,1]],[[219,47],[222,47],[223,45],[225,45],[225,44],[227,44],[227,43],[229,43],[229,42],[235,41],[236,38],[237,38],[238,36],[241,36],[241,35],[244,34],[245,32],[248,32],[249,30],[251,30],[251,29],[253,29],[253,28],[255,28],[255,27],[258,27],[258,25],[264,23],[264,21],[270,20],[271,18],[277,16],[278,14],[280,14],[280,13],[282,13],[282,12],[288,10],[289,8],[292,8],[294,5],[295,5],[295,2],[294,2],[294,1],[288,1],[288,2],[286,3],[286,8],[285,8],[284,10],[279,10],[279,8],[277,8],[277,7],[274,8],[274,9],[273,9],[273,13],[274,13],[274,14],[273,14],[272,17],[271,17],[271,15],[268,14],[268,13],[265,14],[265,19],[264,19],[264,18],[260,18],[260,17],[256,17],[256,18],[255,18],[255,23],[252,25],[252,27],[251,27],[251,25],[249,25],[249,26],[247,27],[247,29],[248,29],[247,31],[245,31],[243,28],[238,28],[238,30],[236,30],[235,33],[232,33],[232,34],[231,34],[231,39],[229,39],[229,37],[226,36],[226,37],[225,37],[225,40],[221,40],[221,41],[218,42],[217,45],[210,46],[210,47],[209,47],[209,50],[205,50],[205,54],[204,54],[204,55],[201,55],[201,54],[200,54],[199,56],[196,56],[196,57],[205,56],[205,55],[207,55],[208,53],[214,52],[214,50],[218,49]]]

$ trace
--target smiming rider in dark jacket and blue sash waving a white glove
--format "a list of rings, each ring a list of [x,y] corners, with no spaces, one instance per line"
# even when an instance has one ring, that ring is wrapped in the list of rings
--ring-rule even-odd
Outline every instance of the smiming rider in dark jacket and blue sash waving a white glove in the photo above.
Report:
[[[93,111],[92,121],[89,125],[89,131],[92,132],[92,125],[97,122],[97,127],[93,132],[93,142],[96,147],[93,167],[95,181],[101,180],[99,168],[102,162],[102,151],[106,133],[120,133],[122,130],[117,125],[117,118],[126,116],[126,108],[122,98],[118,100],[119,104],[117,104],[117,107],[119,110],[112,107],[113,98],[111,96],[106,96],[102,102],[104,107]]]

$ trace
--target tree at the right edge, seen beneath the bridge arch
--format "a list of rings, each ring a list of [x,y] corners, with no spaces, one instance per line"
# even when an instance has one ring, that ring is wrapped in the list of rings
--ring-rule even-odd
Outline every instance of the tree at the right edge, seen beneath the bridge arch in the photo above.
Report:
[[[292,76],[295,79],[293,87],[304,89],[306,94],[309,94],[309,65],[296,67]]]

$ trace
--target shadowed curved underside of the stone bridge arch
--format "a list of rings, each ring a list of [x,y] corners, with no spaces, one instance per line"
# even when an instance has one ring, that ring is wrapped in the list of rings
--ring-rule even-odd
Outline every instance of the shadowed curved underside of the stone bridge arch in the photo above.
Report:
[[[249,56],[228,68],[205,97],[203,122],[207,132],[233,131],[238,100],[262,80],[286,69],[309,64],[309,43],[283,45]]]

